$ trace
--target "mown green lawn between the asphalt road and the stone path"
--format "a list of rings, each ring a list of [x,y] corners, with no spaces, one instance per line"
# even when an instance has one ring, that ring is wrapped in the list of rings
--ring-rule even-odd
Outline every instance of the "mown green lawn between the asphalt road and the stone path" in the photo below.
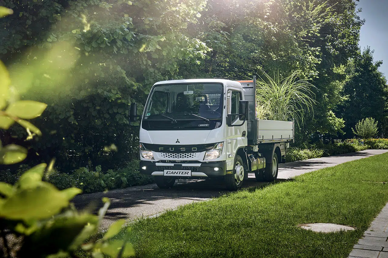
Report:
[[[139,220],[130,242],[137,257],[345,258],[388,201],[385,181],[388,154],[343,163]],[[357,230],[325,234],[296,227],[312,222]]]

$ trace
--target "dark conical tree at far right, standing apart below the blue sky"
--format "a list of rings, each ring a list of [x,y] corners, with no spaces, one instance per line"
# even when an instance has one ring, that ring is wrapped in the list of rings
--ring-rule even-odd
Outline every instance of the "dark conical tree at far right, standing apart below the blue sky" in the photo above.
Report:
[[[337,114],[346,121],[347,138],[353,137],[352,128],[364,117],[385,121],[388,88],[384,75],[379,72],[381,61],[374,62],[373,51],[367,47],[349,61],[345,73],[346,83],[342,94],[346,96]],[[380,124],[380,131],[384,131]]]

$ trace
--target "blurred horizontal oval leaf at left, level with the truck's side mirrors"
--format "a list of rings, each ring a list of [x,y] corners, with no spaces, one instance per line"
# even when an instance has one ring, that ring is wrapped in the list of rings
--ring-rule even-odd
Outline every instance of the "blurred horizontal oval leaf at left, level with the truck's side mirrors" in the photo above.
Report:
[[[33,119],[40,116],[46,109],[47,104],[33,100],[19,100],[7,108],[7,114],[22,119]]]

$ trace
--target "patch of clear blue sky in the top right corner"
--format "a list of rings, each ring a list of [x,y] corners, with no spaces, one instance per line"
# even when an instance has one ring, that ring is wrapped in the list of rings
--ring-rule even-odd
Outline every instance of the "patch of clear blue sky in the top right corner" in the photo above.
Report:
[[[380,72],[388,78],[388,0],[360,0],[356,2],[365,24],[360,32],[360,48],[370,46],[374,60],[382,60]]]

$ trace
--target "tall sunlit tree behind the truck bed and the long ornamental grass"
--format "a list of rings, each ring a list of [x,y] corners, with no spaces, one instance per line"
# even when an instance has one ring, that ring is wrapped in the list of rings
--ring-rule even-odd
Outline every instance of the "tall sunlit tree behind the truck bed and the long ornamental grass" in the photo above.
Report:
[[[314,113],[306,112],[298,139],[312,132],[341,131],[344,121],[333,112],[343,101],[343,66],[358,50],[364,21],[353,0],[277,0],[208,2],[200,21],[189,26],[211,52],[201,65],[180,65],[189,77],[248,79],[301,71],[300,79],[315,86]]]

